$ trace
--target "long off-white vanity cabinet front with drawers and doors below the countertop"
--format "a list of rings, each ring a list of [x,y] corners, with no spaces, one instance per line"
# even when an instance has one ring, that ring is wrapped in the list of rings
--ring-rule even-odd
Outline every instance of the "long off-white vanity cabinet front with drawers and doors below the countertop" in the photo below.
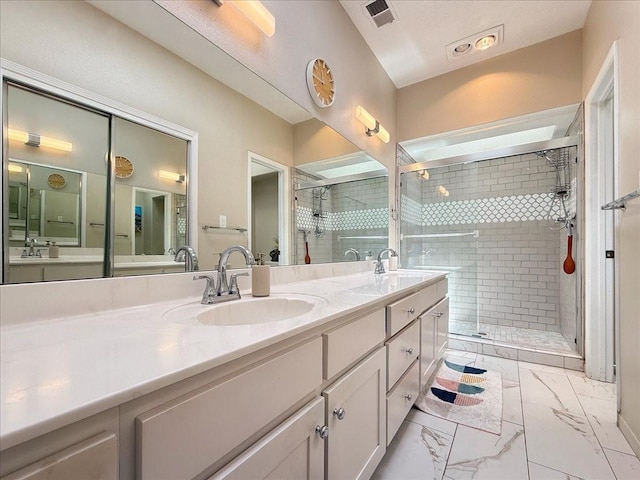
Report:
[[[366,480],[419,393],[425,340],[429,358],[446,348],[446,285],[350,310],[13,446],[1,479]]]

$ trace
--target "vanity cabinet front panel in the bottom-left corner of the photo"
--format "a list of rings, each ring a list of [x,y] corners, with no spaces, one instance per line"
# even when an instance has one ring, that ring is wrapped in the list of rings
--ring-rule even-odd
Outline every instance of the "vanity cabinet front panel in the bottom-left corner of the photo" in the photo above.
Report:
[[[118,441],[102,433],[29,465],[2,480],[116,480]]]

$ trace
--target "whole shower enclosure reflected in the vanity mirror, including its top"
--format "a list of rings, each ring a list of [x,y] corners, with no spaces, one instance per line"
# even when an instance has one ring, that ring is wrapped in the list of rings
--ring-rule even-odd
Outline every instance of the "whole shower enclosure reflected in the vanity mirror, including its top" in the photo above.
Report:
[[[376,160],[357,152],[299,165],[294,184],[296,264],[365,260],[387,247],[388,178]]]

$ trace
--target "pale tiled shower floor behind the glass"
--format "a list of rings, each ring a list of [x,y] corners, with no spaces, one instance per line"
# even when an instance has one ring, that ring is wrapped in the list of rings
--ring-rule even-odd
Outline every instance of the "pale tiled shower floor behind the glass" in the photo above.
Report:
[[[462,338],[478,338],[489,342],[498,342],[514,347],[532,350],[544,350],[559,354],[575,354],[576,349],[559,332],[533,330],[529,328],[508,327],[503,325],[480,324],[480,331],[486,335],[478,336],[478,328],[472,322],[449,322],[449,333]]]

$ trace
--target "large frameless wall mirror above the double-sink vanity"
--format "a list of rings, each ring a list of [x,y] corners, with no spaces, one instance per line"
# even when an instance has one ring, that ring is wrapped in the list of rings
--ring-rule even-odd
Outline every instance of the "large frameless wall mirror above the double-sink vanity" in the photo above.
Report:
[[[137,9],[145,11],[137,12]],[[171,254],[183,243],[196,247],[201,269],[215,268],[219,253],[233,244],[251,245],[255,254],[263,253],[267,260],[271,253],[278,251],[274,265],[303,263],[299,260],[302,251],[299,247],[303,245],[300,230],[309,228],[306,224],[296,223],[297,212],[304,205],[296,205],[295,198],[303,197],[307,191],[304,185],[299,190],[299,185],[326,180],[320,170],[313,169],[316,163],[331,163],[336,167],[335,172],[340,172],[341,164],[362,163],[355,158],[366,157],[338,133],[312,118],[285,95],[153,2],[130,5],[100,1],[0,2],[0,13],[0,55],[4,65],[24,67],[36,72],[36,77],[42,73],[54,80],[77,84],[81,89],[112,100],[126,111],[143,112],[159,121],[183,126],[197,139],[188,143],[184,136],[172,138],[166,132],[158,131],[162,129],[140,125],[127,115],[115,115],[117,118],[112,121],[112,111],[104,115],[99,106],[90,104],[92,108],[82,108],[86,104],[73,105],[69,101],[59,103],[64,108],[82,110],[83,115],[91,118],[90,121],[75,122],[73,128],[80,129],[77,134],[68,129],[71,128],[66,121],[71,118],[68,114],[47,113],[48,108],[39,109],[52,120],[48,135],[44,134],[44,128],[16,124],[15,130],[66,139],[73,143],[73,148],[71,152],[60,153],[50,150],[44,155],[44,148],[3,139],[6,153],[3,156],[6,187],[2,199],[5,282],[9,257],[28,267],[35,264],[33,258],[20,258],[25,249],[29,256],[27,238],[35,238],[38,245],[45,246],[47,240],[55,241],[64,254],[61,257],[74,255],[76,263],[74,268],[64,269],[60,266],[62,262],[56,260],[60,268],[55,274],[53,270],[49,273],[41,270],[39,276],[33,277],[25,270],[23,277],[16,275],[12,281],[103,276],[98,264],[94,265],[94,270],[87,268],[82,273],[75,267],[82,262],[88,263],[91,258],[108,255],[104,251],[106,226],[113,233],[112,243],[107,246],[113,254],[112,275],[183,271],[184,264],[175,264]],[[96,28],[96,25],[100,27]],[[168,29],[171,35],[167,35]],[[175,42],[172,38],[181,41]],[[4,72],[7,72],[6,68]],[[6,90],[3,101],[6,100],[4,96],[8,96]],[[41,97],[45,101],[58,101],[46,95]],[[94,129],[93,123],[102,126]],[[113,138],[109,137],[109,128]],[[129,164],[133,168],[131,176],[123,174],[114,180],[113,218],[106,217],[105,158],[108,152],[112,152],[116,162],[123,163],[123,171],[131,168]],[[170,156],[165,155],[168,152],[171,152]],[[253,184],[253,169],[247,161],[251,154],[268,159],[276,166],[271,186],[267,186],[267,177],[261,179],[265,180],[262,185],[260,182]],[[194,165],[185,165],[185,156],[198,159],[197,174]],[[180,159],[182,163],[177,165],[173,159]],[[375,160],[368,158],[366,162]],[[375,164],[374,171],[383,169],[381,164]],[[10,166],[15,171],[10,172]],[[294,167],[301,167],[299,172],[302,173],[296,173]],[[23,169],[22,177],[18,168]],[[57,173],[64,177],[65,187],[55,189],[45,185],[37,188],[33,182],[35,172],[40,168],[50,169],[48,175]],[[160,170],[170,175],[159,177]],[[277,172],[287,175],[274,195],[273,179],[278,177]],[[31,184],[29,175],[32,176]],[[76,193],[72,192],[72,186],[76,185],[73,175],[78,176],[75,177],[78,178]],[[187,181],[182,181],[184,176]],[[376,174],[376,178],[386,189],[386,177]],[[342,183],[348,182],[335,181],[336,185]],[[278,207],[268,207],[266,211],[270,213],[254,215],[253,193],[261,189],[278,202]],[[268,193],[269,189],[271,193]],[[337,197],[338,186],[330,190],[330,194]],[[43,193],[47,206],[48,200],[62,191],[76,195],[75,213],[73,210],[60,213],[50,207],[49,213],[53,216],[44,218],[42,211],[35,210],[43,205]],[[361,210],[356,208],[362,206],[357,201],[369,202],[368,199],[359,200],[360,189],[354,188],[346,195],[356,199],[354,210]],[[30,200],[29,212],[24,204],[27,199]],[[21,201],[25,208],[20,206]],[[323,202],[323,208],[328,206],[329,200]],[[339,210],[333,205],[337,206],[337,201],[332,199],[331,203],[333,221],[339,217]],[[386,209],[387,203],[388,197],[380,208]],[[261,208],[267,206],[263,201],[258,204]],[[194,205],[198,207],[197,215],[192,214]],[[29,219],[27,215],[35,217]],[[344,216],[348,215],[345,213]],[[50,228],[47,231],[41,229],[43,218]],[[261,222],[267,218],[277,225],[262,228]],[[47,219],[74,222],[74,225],[47,223]],[[39,230],[32,229],[35,224]],[[52,231],[54,226],[58,230]],[[345,247],[346,240],[337,238],[346,237],[346,232],[329,231],[334,233],[313,237],[315,240],[310,241],[338,242],[331,249],[335,252],[321,255],[320,250],[315,250],[312,263],[352,260],[353,257],[343,256],[344,250],[349,248]],[[339,232],[342,235],[338,235]],[[384,236],[387,231],[380,227],[374,233]],[[334,234],[336,238],[333,238]],[[368,250],[363,244],[353,248],[362,250],[363,258]],[[239,256],[231,257],[232,267],[242,266],[242,263]]]

